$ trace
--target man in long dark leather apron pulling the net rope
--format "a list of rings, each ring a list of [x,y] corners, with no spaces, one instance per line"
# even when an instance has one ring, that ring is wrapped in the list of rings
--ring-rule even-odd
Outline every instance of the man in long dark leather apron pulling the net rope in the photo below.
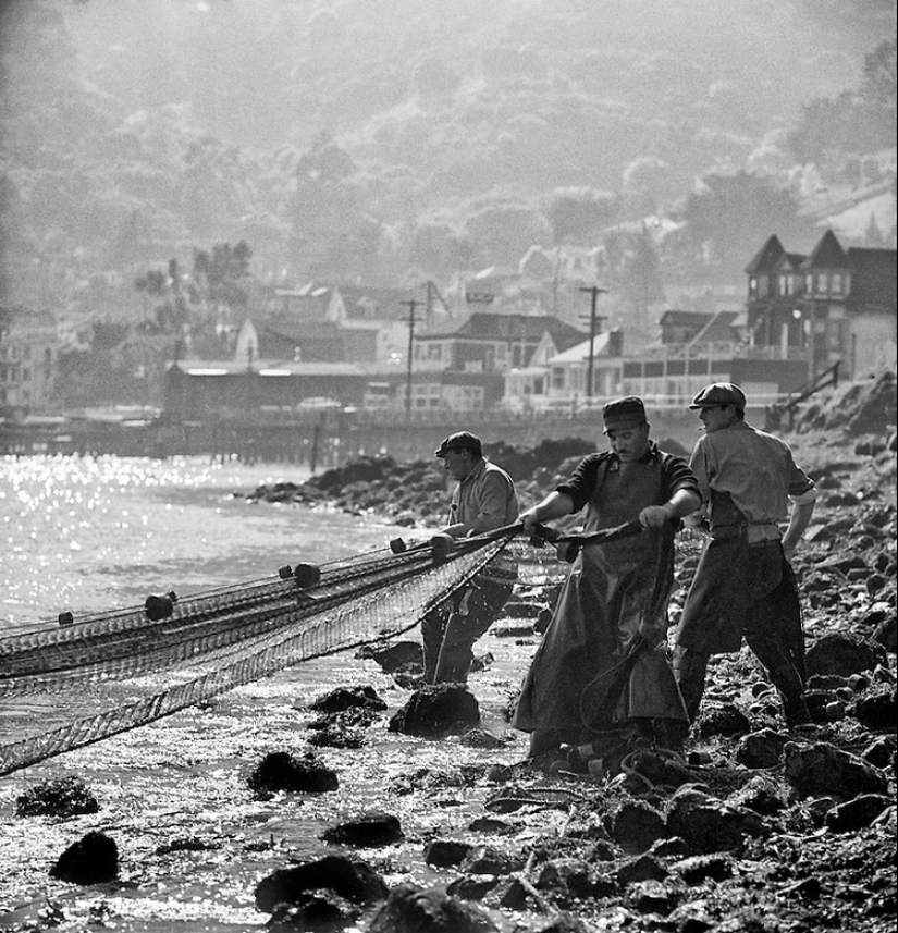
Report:
[[[605,732],[617,734],[618,750],[622,742],[675,748],[688,729],[666,652],[667,599],[674,535],[699,507],[699,487],[686,461],[649,440],[640,397],[608,402],[602,415],[611,450],[588,454],[567,482],[525,511],[524,530],[586,507],[586,533],[636,518],[642,531],[586,543],[573,563],[512,720],[531,734],[530,759]],[[607,720],[596,722],[593,713],[601,705],[592,698],[630,661],[628,682],[603,712]]]

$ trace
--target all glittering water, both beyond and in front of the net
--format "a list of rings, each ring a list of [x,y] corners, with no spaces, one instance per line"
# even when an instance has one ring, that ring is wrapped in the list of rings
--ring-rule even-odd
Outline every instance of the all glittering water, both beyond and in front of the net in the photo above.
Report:
[[[78,615],[142,605],[150,592],[200,592],[270,576],[285,563],[382,549],[408,532],[373,517],[245,501],[261,482],[303,478],[286,469],[207,459],[0,459],[0,634],[56,627],[63,609]],[[333,851],[324,828],[372,809],[395,814],[404,833],[359,854],[388,884],[445,883],[445,872],[425,862],[426,844],[475,837],[466,827],[492,788],[471,784],[466,769],[524,757],[526,737],[508,727],[506,709],[536,643],[488,634],[477,647],[494,655],[471,676],[471,689],[501,749],[391,733],[389,717],[409,690],[345,651],[0,777],[0,929],[263,931],[269,914],[254,900],[259,881]],[[365,731],[361,748],[313,747],[308,704],[349,685],[371,686],[388,711]],[[248,776],[270,751],[315,753],[339,775],[339,788],[255,798]],[[99,812],[16,815],[22,794],[73,775]],[[50,877],[62,851],[95,831],[116,844],[116,881],[79,886]],[[494,920],[510,933],[510,921]]]

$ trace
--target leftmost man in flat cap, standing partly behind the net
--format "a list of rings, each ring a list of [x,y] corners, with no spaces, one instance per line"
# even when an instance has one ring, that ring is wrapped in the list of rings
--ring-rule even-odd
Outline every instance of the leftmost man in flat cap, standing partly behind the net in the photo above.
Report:
[[[434,454],[456,480],[448,523],[431,538],[434,553],[446,554],[458,538],[482,535],[517,520],[514,480],[483,456],[480,438],[458,431],[445,438]],[[500,555],[448,603],[428,613],[421,623],[428,684],[466,683],[473,661],[471,648],[507,602],[516,577],[514,562]]]

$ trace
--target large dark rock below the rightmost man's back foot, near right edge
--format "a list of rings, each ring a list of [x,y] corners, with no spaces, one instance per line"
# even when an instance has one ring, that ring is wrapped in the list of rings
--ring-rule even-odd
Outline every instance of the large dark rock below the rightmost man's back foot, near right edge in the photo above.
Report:
[[[859,794],[884,794],[886,776],[862,758],[825,741],[787,742],[786,779],[803,797],[832,796],[850,800]]]

